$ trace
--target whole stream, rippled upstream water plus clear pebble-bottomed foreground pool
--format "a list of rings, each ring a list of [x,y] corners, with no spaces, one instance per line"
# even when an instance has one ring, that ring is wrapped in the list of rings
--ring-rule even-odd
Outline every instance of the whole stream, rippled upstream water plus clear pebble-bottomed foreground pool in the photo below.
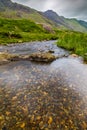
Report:
[[[0,46],[15,54],[54,51],[51,63],[0,66],[0,130],[87,130],[87,65],[54,41]]]

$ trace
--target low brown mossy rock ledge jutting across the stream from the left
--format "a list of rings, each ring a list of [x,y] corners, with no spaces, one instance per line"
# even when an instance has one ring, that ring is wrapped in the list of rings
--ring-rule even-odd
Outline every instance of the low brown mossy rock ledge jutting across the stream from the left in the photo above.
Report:
[[[15,55],[15,54],[10,54],[7,52],[1,52],[0,53],[0,65],[9,63],[11,61],[19,61],[19,60],[30,60],[30,61],[38,61],[38,62],[52,62],[55,60],[56,57],[52,55],[50,52],[37,52],[33,53],[31,55]]]

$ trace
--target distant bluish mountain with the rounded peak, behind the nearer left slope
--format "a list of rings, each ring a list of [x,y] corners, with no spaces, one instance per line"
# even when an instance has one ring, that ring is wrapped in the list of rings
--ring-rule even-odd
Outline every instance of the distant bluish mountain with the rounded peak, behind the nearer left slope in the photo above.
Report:
[[[70,30],[80,31],[80,32],[87,32],[87,22],[79,21],[74,18],[68,19],[63,16],[59,16],[53,10],[47,10],[43,12],[43,15],[65,29],[70,29]]]

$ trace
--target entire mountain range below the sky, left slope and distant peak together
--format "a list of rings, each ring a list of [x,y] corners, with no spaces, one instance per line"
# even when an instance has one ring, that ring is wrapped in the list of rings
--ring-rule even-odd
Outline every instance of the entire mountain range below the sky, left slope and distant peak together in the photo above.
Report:
[[[52,10],[40,12],[30,7],[14,3],[11,0],[0,0],[0,18],[29,19],[44,27],[69,29],[80,32],[87,32],[87,22],[68,19],[59,16]]]

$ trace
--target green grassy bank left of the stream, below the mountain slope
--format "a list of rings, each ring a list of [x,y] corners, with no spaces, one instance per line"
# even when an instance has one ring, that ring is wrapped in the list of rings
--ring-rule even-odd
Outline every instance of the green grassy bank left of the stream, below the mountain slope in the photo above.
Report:
[[[30,20],[0,19],[0,44],[53,40],[57,36]]]

